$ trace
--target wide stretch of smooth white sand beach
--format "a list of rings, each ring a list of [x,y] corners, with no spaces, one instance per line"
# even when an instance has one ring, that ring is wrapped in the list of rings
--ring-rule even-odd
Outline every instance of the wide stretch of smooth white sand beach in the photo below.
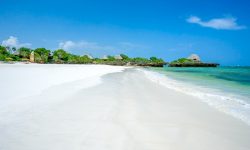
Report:
[[[249,125],[136,68],[1,64],[0,83],[0,150],[250,149]]]

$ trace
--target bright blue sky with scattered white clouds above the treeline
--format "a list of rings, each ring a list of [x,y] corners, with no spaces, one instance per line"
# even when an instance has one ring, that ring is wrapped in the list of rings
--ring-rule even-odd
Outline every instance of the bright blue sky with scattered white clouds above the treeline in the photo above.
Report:
[[[250,65],[248,0],[0,0],[2,45]]]

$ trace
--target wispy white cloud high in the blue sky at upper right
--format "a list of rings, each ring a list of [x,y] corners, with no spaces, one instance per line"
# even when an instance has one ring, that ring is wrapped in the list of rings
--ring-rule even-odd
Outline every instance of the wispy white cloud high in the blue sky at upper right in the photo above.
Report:
[[[237,19],[234,17],[214,18],[209,21],[202,21],[201,18],[197,16],[191,16],[187,18],[186,21],[218,30],[241,30],[246,28],[246,26],[238,25],[236,22]]]

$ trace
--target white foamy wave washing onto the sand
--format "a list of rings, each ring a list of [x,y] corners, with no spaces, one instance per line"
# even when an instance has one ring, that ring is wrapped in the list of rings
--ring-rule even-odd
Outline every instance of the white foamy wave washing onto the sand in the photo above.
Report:
[[[250,125],[250,104],[246,101],[245,97],[172,79],[155,71],[146,69],[138,70],[142,71],[147,78],[155,83],[197,97],[213,108],[238,118]]]

